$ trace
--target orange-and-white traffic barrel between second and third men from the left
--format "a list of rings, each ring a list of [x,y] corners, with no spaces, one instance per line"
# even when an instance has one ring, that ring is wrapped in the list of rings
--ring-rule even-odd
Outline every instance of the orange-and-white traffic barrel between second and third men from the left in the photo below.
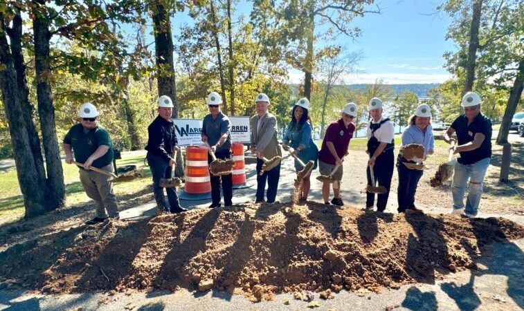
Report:
[[[203,146],[186,147],[186,187],[181,199],[201,200],[210,198],[208,149]]]

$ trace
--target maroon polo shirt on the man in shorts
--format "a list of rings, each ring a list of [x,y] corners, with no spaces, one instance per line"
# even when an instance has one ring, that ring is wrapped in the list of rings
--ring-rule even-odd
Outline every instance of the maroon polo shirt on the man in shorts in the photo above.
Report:
[[[353,137],[354,131],[354,124],[350,123],[350,125],[346,128],[342,119],[338,119],[329,124],[329,126],[327,126],[324,140],[322,141],[322,147],[318,153],[318,160],[334,165],[336,162],[335,158],[331,154],[331,151],[329,151],[327,148],[326,142],[332,142],[338,158],[342,158],[342,156],[344,156],[345,152],[347,151],[347,146],[350,144],[350,140]]]

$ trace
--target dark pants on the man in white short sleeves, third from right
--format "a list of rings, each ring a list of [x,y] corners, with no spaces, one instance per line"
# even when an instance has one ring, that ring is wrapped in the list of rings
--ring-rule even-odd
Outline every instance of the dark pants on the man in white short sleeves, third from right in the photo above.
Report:
[[[394,168],[395,155],[393,154],[393,149],[381,153],[381,155],[374,162],[374,180],[379,184],[379,186],[386,188],[385,194],[377,194],[377,211],[384,211],[386,209],[386,205],[388,205],[388,196]],[[368,167],[366,170],[366,175],[368,176],[368,185],[371,185],[370,167]],[[377,185],[372,186],[376,187]],[[366,207],[372,207],[374,205],[374,195],[375,194],[367,192],[367,198],[365,200]]]

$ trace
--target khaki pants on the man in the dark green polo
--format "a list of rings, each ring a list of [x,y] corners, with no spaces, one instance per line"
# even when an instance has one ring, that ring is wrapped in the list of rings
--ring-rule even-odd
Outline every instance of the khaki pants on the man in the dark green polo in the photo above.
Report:
[[[102,167],[104,171],[113,171],[111,164]],[[95,201],[96,217],[107,218],[118,216],[118,204],[113,194],[113,183],[108,182],[109,176],[96,171],[80,169],[80,182],[87,196]]]

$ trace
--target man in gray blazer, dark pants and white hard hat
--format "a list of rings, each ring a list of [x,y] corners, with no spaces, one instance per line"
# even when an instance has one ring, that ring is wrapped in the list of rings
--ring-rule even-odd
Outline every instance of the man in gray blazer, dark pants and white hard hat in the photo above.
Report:
[[[260,93],[255,97],[256,115],[253,115],[250,120],[251,125],[251,152],[257,156],[257,193],[255,202],[264,202],[264,191],[267,183],[267,201],[268,203],[275,202],[278,189],[278,181],[280,180],[280,163],[270,169],[264,171],[260,175],[263,158],[271,159],[275,156],[282,156],[282,149],[278,144],[277,133],[277,118],[275,115],[267,111],[269,106],[269,97]]]

